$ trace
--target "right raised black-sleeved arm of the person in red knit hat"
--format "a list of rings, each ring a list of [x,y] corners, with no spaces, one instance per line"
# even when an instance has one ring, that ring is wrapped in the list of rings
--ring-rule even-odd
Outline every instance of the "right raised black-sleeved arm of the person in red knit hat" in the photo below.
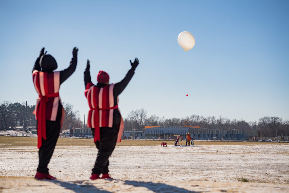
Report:
[[[116,96],[120,95],[121,92],[125,89],[129,81],[131,80],[132,76],[134,76],[134,71],[139,64],[138,58],[135,58],[133,63],[131,62],[131,60],[129,61],[130,61],[131,69],[127,72],[127,74],[125,75],[125,78],[123,78],[121,82],[118,82],[114,85],[113,94]]]

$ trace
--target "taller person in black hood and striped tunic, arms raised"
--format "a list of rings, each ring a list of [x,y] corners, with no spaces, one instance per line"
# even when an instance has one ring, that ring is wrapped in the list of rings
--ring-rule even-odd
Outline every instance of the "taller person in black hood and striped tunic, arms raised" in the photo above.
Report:
[[[65,114],[58,91],[60,84],[76,69],[78,49],[73,48],[70,65],[62,71],[54,71],[57,69],[56,60],[46,54],[47,52],[44,53],[44,49],[41,49],[32,69],[34,87],[39,95],[34,110],[39,148],[39,163],[35,179],[55,180],[55,177],[49,175],[47,165],[53,154]]]

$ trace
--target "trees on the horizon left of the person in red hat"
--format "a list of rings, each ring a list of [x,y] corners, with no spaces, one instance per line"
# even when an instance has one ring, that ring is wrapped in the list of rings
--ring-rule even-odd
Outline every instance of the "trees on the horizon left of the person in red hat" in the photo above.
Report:
[[[78,111],[73,109],[73,105],[69,103],[62,103],[65,111],[64,122],[62,130],[72,129],[72,128],[84,128],[84,123],[80,120],[80,115]],[[25,130],[27,128],[35,128],[36,120],[33,111],[35,105],[29,105],[23,102],[22,104],[15,102],[11,103],[4,101],[0,103],[0,129],[13,130],[18,127],[23,127]]]

